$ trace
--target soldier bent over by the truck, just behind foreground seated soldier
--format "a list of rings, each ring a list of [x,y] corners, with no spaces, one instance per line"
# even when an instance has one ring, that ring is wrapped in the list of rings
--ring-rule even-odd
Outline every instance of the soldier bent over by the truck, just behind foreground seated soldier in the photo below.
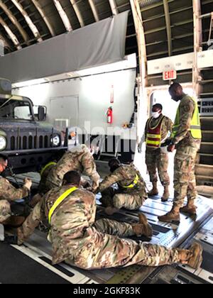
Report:
[[[60,187],[65,173],[75,170],[77,172],[85,172],[93,182],[92,190],[95,191],[99,187],[99,174],[97,173],[97,167],[86,145],[78,145],[72,148],[70,151],[59,160],[55,167],[52,167],[47,180],[46,187],[48,190],[53,187]]]

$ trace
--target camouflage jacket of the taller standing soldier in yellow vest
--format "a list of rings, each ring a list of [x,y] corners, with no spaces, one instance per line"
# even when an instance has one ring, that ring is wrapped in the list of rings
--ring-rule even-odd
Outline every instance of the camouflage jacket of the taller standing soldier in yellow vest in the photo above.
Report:
[[[181,147],[193,147],[200,149],[201,140],[192,138],[189,131],[192,116],[195,111],[195,101],[189,95],[185,94],[180,101],[180,127],[176,133],[173,143]]]

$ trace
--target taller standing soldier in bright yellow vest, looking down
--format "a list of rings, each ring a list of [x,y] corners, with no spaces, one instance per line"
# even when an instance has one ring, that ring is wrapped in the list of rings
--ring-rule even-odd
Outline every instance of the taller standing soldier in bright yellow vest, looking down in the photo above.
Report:
[[[168,147],[170,152],[177,149],[174,175],[175,200],[173,209],[165,216],[158,217],[160,221],[166,222],[180,221],[180,211],[190,215],[196,214],[195,163],[202,139],[197,101],[185,94],[178,83],[172,84],[169,92],[173,100],[180,101],[180,106]],[[185,197],[187,206],[184,206]]]

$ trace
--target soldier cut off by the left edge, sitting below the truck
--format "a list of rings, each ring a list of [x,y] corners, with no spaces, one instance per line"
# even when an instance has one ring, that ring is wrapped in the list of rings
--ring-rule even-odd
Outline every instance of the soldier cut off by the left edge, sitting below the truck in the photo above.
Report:
[[[8,160],[0,155],[0,173],[6,170]],[[24,218],[22,216],[12,216],[11,204],[18,199],[28,197],[29,190],[31,189],[31,180],[26,179],[25,184],[21,189],[16,189],[12,184],[4,177],[0,176],[0,223],[10,224],[11,226],[20,226],[23,223]]]

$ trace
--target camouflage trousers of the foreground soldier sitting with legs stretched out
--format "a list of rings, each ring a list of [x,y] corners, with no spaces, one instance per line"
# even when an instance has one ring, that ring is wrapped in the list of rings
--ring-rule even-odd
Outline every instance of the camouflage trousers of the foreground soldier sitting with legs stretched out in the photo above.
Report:
[[[84,270],[92,270],[127,267],[134,264],[153,267],[180,261],[176,249],[119,238],[119,236],[124,236],[120,233],[122,229],[126,229],[126,236],[131,232],[130,230],[128,232],[127,226],[121,228],[123,225],[124,223],[114,223],[108,220],[98,221],[92,228],[91,241],[85,243],[83,248],[75,252],[75,255],[67,258],[65,263]],[[112,235],[109,235],[109,232]]]

